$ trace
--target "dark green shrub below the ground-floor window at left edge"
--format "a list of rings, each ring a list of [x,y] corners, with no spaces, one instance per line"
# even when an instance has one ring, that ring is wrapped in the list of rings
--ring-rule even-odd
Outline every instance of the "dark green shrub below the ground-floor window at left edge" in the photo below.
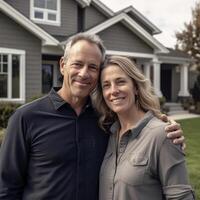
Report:
[[[0,127],[6,128],[8,119],[21,104],[0,102]]]

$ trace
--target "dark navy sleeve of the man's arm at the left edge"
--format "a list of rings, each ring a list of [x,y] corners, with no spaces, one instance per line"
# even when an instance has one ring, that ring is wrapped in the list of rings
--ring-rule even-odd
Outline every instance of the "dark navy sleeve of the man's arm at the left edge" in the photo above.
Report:
[[[28,163],[25,123],[20,112],[9,120],[0,148],[0,199],[22,199]]]

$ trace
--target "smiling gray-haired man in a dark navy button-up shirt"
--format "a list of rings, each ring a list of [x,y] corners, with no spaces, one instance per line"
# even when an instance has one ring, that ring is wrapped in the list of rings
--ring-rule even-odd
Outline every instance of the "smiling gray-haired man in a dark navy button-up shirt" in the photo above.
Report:
[[[60,60],[62,87],[11,117],[0,152],[1,200],[98,199],[108,134],[98,127],[89,94],[104,58],[96,35],[70,38]],[[181,136],[177,124],[168,128]]]

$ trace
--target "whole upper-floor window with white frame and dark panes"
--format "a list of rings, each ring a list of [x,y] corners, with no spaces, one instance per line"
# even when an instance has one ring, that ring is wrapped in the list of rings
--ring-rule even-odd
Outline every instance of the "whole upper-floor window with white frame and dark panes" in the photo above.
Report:
[[[36,23],[60,25],[60,0],[31,0],[31,19]]]

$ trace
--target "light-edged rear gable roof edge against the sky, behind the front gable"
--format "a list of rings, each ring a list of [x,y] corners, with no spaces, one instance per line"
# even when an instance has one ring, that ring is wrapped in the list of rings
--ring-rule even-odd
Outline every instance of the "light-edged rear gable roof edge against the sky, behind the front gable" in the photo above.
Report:
[[[144,24],[146,27],[148,27],[150,30],[152,30],[153,34],[161,33],[161,30],[156,27],[154,24],[152,24],[143,14],[141,14],[139,11],[137,11],[133,6],[128,6],[117,13],[127,13],[133,15],[137,20],[141,21],[142,24]]]

